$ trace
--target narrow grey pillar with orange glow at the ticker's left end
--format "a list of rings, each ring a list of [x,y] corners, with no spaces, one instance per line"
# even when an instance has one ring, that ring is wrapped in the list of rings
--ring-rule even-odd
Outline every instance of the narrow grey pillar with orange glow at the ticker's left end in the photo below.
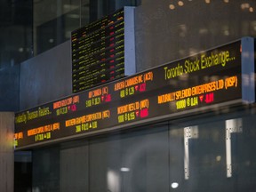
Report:
[[[14,114],[0,113],[0,191],[13,191]]]

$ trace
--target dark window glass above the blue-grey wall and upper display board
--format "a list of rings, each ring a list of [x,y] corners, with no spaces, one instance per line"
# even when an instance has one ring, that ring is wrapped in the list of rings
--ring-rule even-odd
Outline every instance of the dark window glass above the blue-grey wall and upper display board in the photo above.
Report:
[[[34,54],[64,43],[76,28],[136,4],[135,0],[34,0]]]

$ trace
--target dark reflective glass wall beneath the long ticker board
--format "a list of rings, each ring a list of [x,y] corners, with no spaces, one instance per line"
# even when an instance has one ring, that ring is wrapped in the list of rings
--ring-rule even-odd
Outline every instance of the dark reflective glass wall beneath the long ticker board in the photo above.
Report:
[[[60,172],[60,191],[231,192],[236,186],[239,192],[252,191],[256,185],[255,115],[244,113],[193,116],[92,138],[84,144],[73,141],[68,148],[60,148],[60,167],[57,163],[54,169],[48,165],[59,162],[59,149],[37,149],[33,187],[58,188]],[[55,177],[49,177],[49,172]],[[48,185],[51,182],[54,185]]]

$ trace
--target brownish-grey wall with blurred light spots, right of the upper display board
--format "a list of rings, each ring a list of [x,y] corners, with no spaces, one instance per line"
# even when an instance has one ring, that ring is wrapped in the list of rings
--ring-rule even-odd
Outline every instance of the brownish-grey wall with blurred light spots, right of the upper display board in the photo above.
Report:
[[[141,2],[135,10],[137,71],[227,44],[241,36],[256,36],[255,11],[243,9],[241,0],[210,4],[181,1],[182,6],[178,1]],[[255,1],[246,4],[254,7]]]

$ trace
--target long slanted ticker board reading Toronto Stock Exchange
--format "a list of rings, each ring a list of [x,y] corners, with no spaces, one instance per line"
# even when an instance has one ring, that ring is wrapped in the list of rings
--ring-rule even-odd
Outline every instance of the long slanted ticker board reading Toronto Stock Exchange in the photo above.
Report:
[[[253,102],[254,81],[244,84],[242,74],[254,74],[254,59],[243,59],[243,41],[21,111],[15,114],[16,149],[241,104],[249,96]]]

